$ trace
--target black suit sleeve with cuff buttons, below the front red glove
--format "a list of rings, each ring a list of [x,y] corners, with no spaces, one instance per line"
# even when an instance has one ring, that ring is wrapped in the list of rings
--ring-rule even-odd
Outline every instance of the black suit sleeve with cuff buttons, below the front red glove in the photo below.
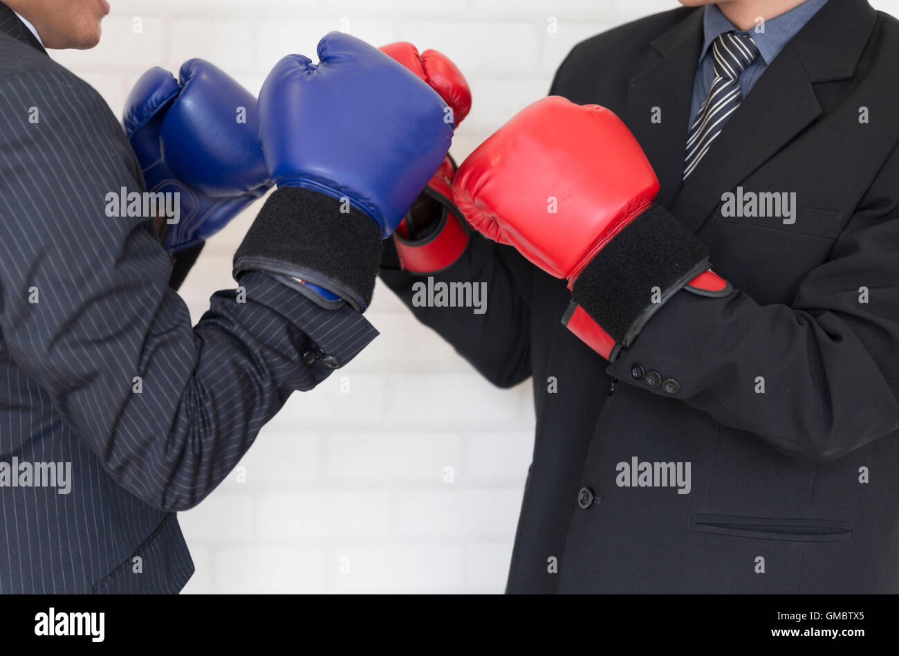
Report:
[[[899,152],[788,305],[681,291],[608,373],[676,398],[797,459],[828,462],[899,428]],[[714,263],[713,263],[714,264]],[[763,387],[762,387],[763,386]]]

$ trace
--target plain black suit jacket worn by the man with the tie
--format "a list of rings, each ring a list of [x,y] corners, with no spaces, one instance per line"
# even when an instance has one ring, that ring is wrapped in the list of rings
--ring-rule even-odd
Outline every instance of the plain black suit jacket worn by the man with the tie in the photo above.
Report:
[[[551,93],[627,122],[736,293],[675,295],[609,364],[560,325],[564,282],[474,238],[437,277],[486,281],[488,311],[413,310],[495,383],[534,378],[508,590],[899,592],[899,23],[825,4],[681,184],[701,41],[701,9],[629,23]],[[796,193],[795,222],[725,216],[738,187]],[[635,458],[689,463],[689,493]]]

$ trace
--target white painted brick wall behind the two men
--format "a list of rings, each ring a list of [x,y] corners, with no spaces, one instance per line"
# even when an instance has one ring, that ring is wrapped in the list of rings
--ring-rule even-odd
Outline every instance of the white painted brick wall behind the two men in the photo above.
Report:
[[[832,0],[839,2],[840,0]],[[899,0],[877,0],[899,14]],[[474,93],[465,157],[546,94],[579,40],[675,0],[117,0],[101,45],[53,57],[120,115],[147,68],[209,58],[258,92],[325,31],[411,40],[454,58]],[[138,21],[139,19],[139,21]],[[142,27],[134,32],[134,25]],[[550,22],[557,31],[547,29]],[[260,203],[213,238],[182,289],[199,319],[231,286],[234,248]],[[236,471],[181,522],[187,592],[500,592],[530,463],[530,383],[499,391],[378,283],[381,336],[320,388],[295,394]],[[349,392],[341,391],[342,377]],[[410,400],[412,402],[410,402]],[[238,481],[238,476],[241,477]]]

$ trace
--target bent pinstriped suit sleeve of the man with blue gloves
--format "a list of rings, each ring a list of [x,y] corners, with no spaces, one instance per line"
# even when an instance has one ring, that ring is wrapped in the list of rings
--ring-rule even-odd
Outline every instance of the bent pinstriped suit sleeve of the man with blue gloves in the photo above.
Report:
[[[191,328],[152,221],[115,216],[109,200],[140,192],[138,175],[89,86],[65,71],[4,80],[0,353],[123,488],[181,510],[222,481],[291,391],[311,390],[377,332],[259,272],[216,293]]]

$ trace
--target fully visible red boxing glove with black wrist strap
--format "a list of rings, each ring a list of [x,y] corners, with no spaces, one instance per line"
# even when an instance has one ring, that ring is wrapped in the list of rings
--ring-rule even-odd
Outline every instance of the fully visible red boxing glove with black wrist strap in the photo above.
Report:
[[[473,228],[568,281],[565,325],[611,360],[676,292],[732,291],[699,239],[654,204],[658,190],[614,113],[553,96],[476,148],[453,191]]]

